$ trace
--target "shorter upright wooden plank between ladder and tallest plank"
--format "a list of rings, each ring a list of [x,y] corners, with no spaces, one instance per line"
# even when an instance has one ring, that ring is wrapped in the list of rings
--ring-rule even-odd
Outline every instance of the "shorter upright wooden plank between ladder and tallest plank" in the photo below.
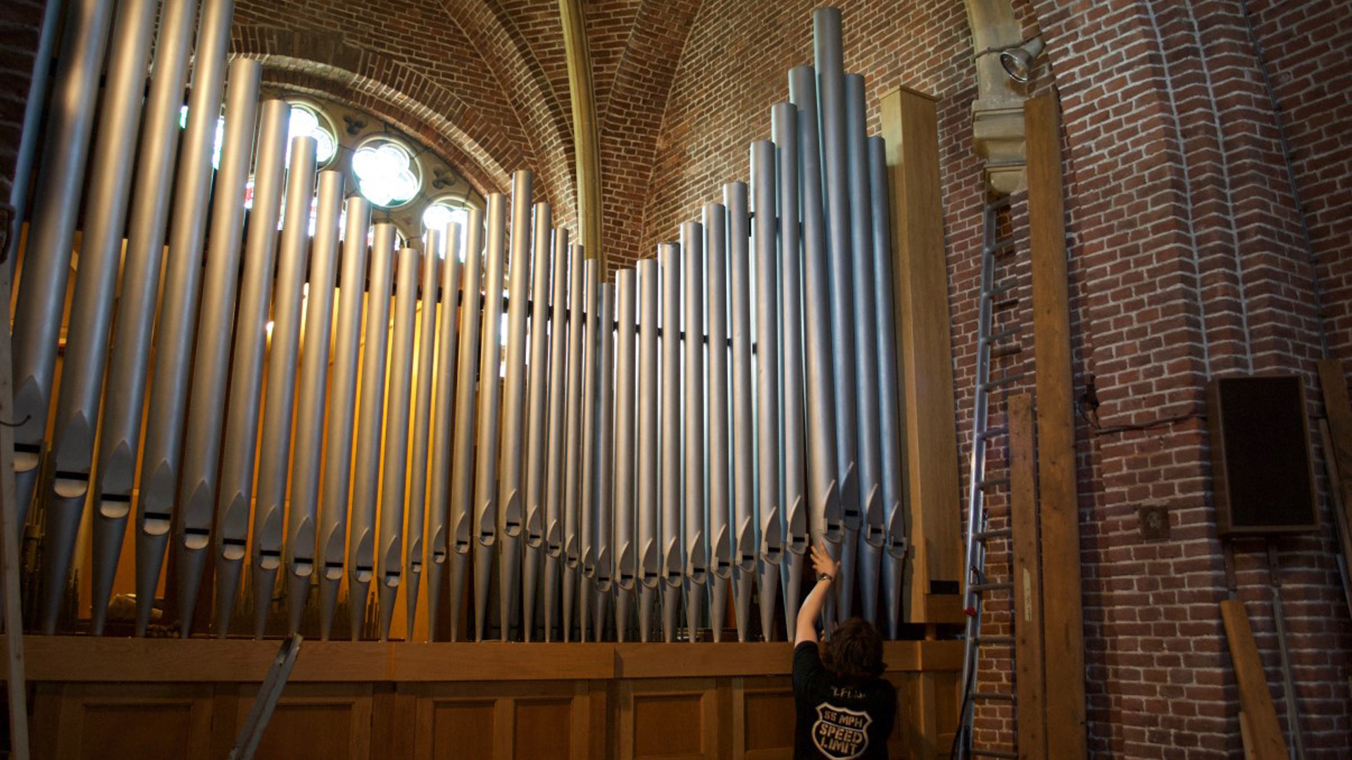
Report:
[[[1018,755],[1046,757],[1046,705],[1042,671],[1042,575],[1037,552],[1037,457],[1033,398],[1009,400],[1010,527],[1014,581],[1014,695]]]

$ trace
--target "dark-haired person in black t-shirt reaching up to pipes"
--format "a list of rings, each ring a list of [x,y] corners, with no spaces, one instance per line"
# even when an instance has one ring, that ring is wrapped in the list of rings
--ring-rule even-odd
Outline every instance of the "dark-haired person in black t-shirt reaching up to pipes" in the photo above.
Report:
[[[872,623],[850,618],[818,653],[817,618],[840,563],[813,546],[817,586],[798,610],[794,637],[795,760],[887,757],[896,718],[896,688],[882,679],[883,640]]]

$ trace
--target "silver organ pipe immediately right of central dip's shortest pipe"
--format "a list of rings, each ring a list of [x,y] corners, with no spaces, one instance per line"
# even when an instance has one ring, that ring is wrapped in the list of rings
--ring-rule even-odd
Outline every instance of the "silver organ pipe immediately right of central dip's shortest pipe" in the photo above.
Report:
[[[635,533],[635,368],[637,338],[634,325],[638,306],[638,283],[634,269],[615,272],[615,533],[614,546],[615,638],[625,641],[629,629],[630,600],[638,577]]]

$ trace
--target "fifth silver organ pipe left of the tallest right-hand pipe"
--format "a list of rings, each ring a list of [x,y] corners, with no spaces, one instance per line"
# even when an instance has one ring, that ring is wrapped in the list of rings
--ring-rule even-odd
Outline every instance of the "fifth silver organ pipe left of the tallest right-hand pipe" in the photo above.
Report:
[[[721,203],[703,210],[706,287],[708,289],[708,537],[713,592],[708,622],[714,641],[723,640],[727,592],[733,575],[731,492],[727,419],[727,211]]]

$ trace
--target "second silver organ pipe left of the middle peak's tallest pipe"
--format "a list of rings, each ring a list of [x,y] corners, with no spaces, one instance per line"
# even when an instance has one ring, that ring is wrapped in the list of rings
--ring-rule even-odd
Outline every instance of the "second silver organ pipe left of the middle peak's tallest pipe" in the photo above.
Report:
[[[499,219],[502,218],[499,204]],[[460,360],[456,371],[456,444],[450,465],[450,640],[460,634],[460,602],[469,563],[475,492],[475,398],[479,381],[480,316],[483,306],[484,212],[469,210],[465,231],[465,279],[460,285]],[[500,288],[500,283],[499,283]],[[500,292],[500,291],[499,291]]]

